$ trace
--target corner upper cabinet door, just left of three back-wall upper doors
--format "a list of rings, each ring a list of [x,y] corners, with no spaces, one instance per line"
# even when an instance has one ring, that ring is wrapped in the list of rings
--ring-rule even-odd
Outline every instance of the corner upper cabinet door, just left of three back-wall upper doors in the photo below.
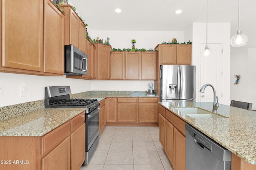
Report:
[[[97,43],[98,45],[98,79],[110,80],[110,46]]]

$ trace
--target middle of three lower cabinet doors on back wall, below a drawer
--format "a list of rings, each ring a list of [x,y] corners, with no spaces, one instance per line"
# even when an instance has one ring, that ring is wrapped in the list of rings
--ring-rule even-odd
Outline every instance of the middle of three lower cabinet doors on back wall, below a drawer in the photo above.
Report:
[[[117,122],[136,123],[138,117],[137,103],[118,103]]]

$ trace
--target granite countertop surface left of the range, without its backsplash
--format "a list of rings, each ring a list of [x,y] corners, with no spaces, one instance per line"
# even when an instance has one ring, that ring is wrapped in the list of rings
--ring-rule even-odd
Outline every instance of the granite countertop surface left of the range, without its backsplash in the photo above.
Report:
[[[0,120],[0,136],[42,136],[86,108],[44,108]]]

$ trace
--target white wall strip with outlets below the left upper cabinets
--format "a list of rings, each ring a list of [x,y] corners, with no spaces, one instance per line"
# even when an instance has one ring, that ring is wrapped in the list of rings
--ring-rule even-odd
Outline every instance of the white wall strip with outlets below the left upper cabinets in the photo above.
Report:
[[[20,97],[22,84],[26,84],[25,97]],[[0,87],[3,89],[0,107],[43,100],[46,86],[70,86],[72,94],[91,90],[90,80],[78,80],[66,78],[66,76],[33,76],[0,72]]]

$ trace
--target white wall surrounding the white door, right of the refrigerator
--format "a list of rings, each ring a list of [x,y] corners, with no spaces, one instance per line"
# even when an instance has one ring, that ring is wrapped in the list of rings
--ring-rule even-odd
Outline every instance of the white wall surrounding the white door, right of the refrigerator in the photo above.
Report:
[[[201,43],[206,43],[206,23],[193,23],[192,65],[196,65],[196,99],[200,90],[200,56]],[[230,23],[208,23],[208,43],[222,43],[223,79],[222,104],[230,104]]]

